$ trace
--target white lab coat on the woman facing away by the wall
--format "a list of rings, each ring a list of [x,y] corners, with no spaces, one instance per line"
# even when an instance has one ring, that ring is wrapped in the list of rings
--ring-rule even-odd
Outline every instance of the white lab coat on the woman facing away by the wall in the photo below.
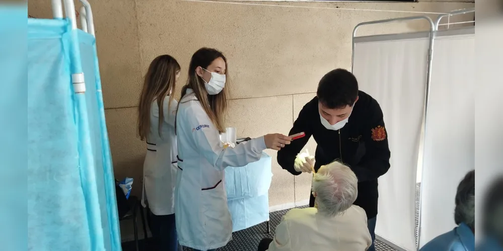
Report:
[[[147,137],[147,155],[143,163],[143,194],[141,204],[149,206],[155,215],[175,213],[174,190],[176,182],[176,135],[175,111],[177,102],[173,100],[168,109],[169,96],[164,99],[164,121],[162,138],[159,136],[159,107],[157,100],[150,112],[150,133]]]

